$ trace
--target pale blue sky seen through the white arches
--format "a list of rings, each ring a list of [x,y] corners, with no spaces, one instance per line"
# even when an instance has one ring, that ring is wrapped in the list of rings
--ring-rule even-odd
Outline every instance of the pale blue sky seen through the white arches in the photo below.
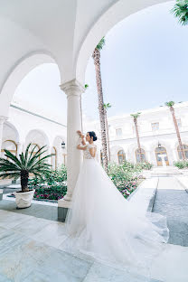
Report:
[[[112,105],[109,117],[155,108],[168,100],[188,100],[188,26],[181,26],[170,14],[173,5],[168,2],[132,14],[106,35],[101,74],[105,102]],[[89,89],[83,94],[82,110],[89,118],[98,119],[92,58],[86,83]],[[38,106],[66,119],[66,97],[59,84],[57,66],[42,65],[25,77],[15,95],[31,100],[32,93]]]

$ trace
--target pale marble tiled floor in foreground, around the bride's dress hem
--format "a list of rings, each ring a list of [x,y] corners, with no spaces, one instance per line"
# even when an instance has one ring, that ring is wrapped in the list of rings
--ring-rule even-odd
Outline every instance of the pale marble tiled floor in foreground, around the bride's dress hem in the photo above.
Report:
[[[14,282],[187,282],[188,248],[166,244],[144,274],[109,268],[61,250],[64,223],[0,211],[0,281]]]

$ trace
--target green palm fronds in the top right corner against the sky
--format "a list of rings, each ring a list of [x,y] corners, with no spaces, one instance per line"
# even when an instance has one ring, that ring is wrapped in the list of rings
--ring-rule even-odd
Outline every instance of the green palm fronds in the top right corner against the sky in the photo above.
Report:
[[[179,23],[182,25],[188,24],[188,1],[177,0],[171,13],[179,19]]]

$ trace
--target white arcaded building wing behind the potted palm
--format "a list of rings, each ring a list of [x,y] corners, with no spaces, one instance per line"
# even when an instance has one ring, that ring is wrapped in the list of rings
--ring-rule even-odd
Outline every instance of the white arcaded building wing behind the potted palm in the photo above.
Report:
[[[63,143],[66,146],[66,135],[65,125],[11,104],[9,118],[3,124],[1,156],[5,154],[5,149],[18,156],[29,143],[32,143],[30,151],[35,145],[35,151],[46,146],[44,154],[54,154],[47,161],[56,169],[67,162],[66,147],[62,148]]]

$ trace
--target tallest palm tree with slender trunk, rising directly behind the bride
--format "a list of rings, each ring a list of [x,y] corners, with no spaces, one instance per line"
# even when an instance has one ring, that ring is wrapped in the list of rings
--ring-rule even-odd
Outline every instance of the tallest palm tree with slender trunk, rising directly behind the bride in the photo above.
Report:
[[[105,125],[105,108],[104,108],[102,80],[101,80],[101,71],[100,71],[100,51],[102,50],[104,44],[105,44],[105,38],[103,37],[100,40],[99,44],[96,46],[95,50],[93,51],[92,57],[95,64],[96,82],[98,89],[99,120],[100,120],[100,131],[101,131],[101,141],[102,141],[103,164],[105,171],[108,173],[107,132]]]

